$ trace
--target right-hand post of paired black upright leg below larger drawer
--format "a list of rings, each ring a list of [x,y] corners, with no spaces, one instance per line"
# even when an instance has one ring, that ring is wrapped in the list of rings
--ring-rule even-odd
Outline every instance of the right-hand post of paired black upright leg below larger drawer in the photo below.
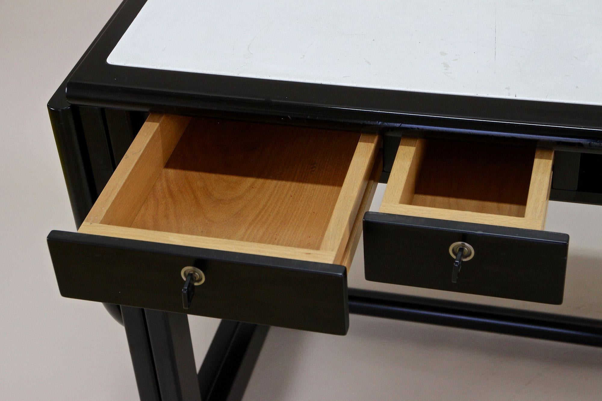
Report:
[[[199,401],[188,316],[144,309],[162,400]]]

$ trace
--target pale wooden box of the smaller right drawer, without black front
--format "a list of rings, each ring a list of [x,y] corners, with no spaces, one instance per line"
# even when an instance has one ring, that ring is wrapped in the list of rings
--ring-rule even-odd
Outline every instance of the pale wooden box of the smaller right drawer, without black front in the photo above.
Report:
[[[402,138],[380,212],[543,229],[553,151]]]

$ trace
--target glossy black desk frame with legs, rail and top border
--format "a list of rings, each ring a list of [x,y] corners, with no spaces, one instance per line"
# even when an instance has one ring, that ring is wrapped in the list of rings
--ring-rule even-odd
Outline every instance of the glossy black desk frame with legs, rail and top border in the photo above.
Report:
[[[155,74],[153,77],[159,84],[167,79],[173,85],[189,76],[186,73],[144,69],[139,69],[141,81],[125,88],[119,86],[119,82],[111,82],[111,73],[117,70],[103,63],[102,57],[106,58],[107,50],[113,48],[143,4],[143,0],[123,2],[48,104],[77,226],[92,208],[149,111],[333,128],[356,127],[362,131],[379,132],[383,135],[381,182],[388,179],[400,133],[405,130],[419,132],[426,137],[459,139],[477,135],[497,141],[544,141],[556,149],[550,199],[602,205],[602,181],[599,179],[602,169],[602,113],[599,107],[563,104],[544,107],[539,104],[541,102],[529,102],[524,104],[523,120],[518,121],[515,116],[505,115],[510,113],[510,109],[504,107],[504,102],[514,102],[512,100],[492,99],[483,104],[482,99],[455,96],[463,98],[458,103],[448,98],[451,95],[432,94],[401,99],[408,105],[430,102],[439,108],[438,117],[383,111],[387,110],[387,102],[400,102],[396,98],[399,94],[389,93],[391,91],[330,87],[330,92],[322,93],[320,85],[259,82],[262,80],[248,78],[212,78],[203,83],[203,90],[197,92],[193,89],[186,94],[169,90],[159,93],[144,85],[145,76]],[[110,72],[105,70],[107,68],[111,68]],[[120,76],[119,72],[115,76]],[[103,79],[107,82],[102,82]],[[290,92],[296,93],[299,99],[265,101],[270,97],[265,91],[278,92],[282,85],[288,85]],[[228,89],[231,89],[229,95],[217,93]],[[324,104],[312,104],[309,98],[303,99],[311,95],[320,97],[324,102],[332,96],[348,100],[356,98],[359,93],[362,93],[362,99],[373,103],[369,110],[361,110],[353,104],[325,107]],[[250,94],[255,98],[263,96],[264,101],[240,100]],[[233,100],[235,97],[238,101]],[[336,102],[336,99],[330,101]],[[475,107],[478,104],[482,115],[462,115],[462,110],[470,110],[473,103]],[[556,113],[550,107],[559,108],[563,113]],[[571,109],[570,113],[565,113],[563,108],[566,107]],[[448,117],[454,115],[456,117]],[[138,391],[143,400],[240,399],[268,331],[268,326],[223,320],[197,372],[185,314],[131,306],[105,307],[125,327]],[[353,288],[349,289],[349,311],[388,319],[602,346],[602,320]]]

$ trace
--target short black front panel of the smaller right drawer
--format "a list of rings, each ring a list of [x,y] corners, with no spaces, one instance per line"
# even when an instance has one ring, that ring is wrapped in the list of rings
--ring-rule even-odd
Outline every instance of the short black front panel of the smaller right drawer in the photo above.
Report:
[[[474,256],[452,282],[450,245]],[[562,303],[568,235],[423,217],[364,216],[365,278],[531,302]]]

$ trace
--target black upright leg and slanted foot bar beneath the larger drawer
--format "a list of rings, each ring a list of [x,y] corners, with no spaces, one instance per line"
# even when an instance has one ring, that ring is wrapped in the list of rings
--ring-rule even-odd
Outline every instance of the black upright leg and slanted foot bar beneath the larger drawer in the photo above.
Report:
[[[121,310],[141,400],[242,399],[269,326],[222,320],[197,374],[187,315]]]

